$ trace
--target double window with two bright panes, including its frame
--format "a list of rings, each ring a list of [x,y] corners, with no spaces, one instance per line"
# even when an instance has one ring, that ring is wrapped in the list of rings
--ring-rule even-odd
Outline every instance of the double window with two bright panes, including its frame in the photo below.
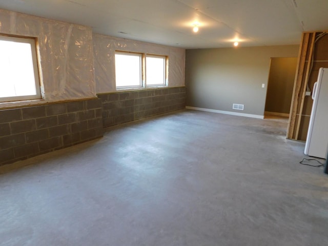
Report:
[[[168,57],[145,53],[115,52],[117,89],[167,86]]]

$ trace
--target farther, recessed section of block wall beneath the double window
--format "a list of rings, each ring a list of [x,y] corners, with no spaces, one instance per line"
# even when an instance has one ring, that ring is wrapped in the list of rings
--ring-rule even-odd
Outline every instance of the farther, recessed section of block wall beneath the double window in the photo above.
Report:
[[[98,94],[98,98],[104,128],[186,108],[185,87]]]

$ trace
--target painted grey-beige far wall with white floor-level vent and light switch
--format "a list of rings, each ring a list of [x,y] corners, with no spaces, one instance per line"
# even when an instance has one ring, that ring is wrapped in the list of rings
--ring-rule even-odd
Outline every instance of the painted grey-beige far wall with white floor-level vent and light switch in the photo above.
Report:
[[[295,57],[298,49],[288,45],[187,50],[187,106],[263,116],[270,58]],[[243,104],[244,110],[233,110],[233,104]]]

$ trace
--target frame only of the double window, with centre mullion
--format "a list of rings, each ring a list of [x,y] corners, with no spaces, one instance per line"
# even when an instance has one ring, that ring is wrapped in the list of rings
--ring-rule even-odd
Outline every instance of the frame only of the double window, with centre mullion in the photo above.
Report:
[[[116,75],[115,75],[115,84],[116,90],[121,89],[145,89],[145,88],[156,88],[156,87],[168,87],[168,60],[169,57],[165,55],[155,55],[155,54],[147,54],[147,53],[137,53],[137,52],[129,52],[129,51],[115,51],[116,54],[121,55],[135,55],[140,57],[140,86],[117,86]],[[146,77],[146,58],[147,57],[155,57],[155,58],[163,58],[164,66],[163,66],[163,83],[156,85],[147,85],[147,77]],[[128,71],[128,68],[127,68]],[[116,73],[116,64],[115,64],[115,73]]]

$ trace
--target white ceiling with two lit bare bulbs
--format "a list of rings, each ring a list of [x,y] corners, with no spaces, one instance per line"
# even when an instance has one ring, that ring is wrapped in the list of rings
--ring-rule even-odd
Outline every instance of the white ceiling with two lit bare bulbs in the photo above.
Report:
[[[328,0],[1,0],[0,8],[186,49],[231,47],[235,39],[299,44],[303,31],[328,30]]]

